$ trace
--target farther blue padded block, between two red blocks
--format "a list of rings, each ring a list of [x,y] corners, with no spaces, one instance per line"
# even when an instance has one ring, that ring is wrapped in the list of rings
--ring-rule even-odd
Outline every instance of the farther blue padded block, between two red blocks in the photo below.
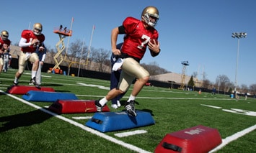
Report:
[[[47,91],[29,91],[22,96],[27,101],[42,101],[42,102],[55,102],[58,99],[67,100],[78,99],[74,93],[59,93],[59,92],[47,92]]]

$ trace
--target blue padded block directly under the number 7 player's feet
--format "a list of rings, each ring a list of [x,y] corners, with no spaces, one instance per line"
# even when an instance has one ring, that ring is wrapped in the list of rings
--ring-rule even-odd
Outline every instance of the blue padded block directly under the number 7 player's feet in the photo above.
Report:
[[[107,132],[155,124],[151,113],[145,111],[136,111],[136,113],[136,117],[128,116],[126,111],[94,113],[92,119],[85,125],[101,132]]]

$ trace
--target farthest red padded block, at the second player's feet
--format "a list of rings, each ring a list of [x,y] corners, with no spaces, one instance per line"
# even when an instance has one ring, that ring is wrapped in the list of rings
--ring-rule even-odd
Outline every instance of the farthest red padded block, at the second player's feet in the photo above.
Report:
[[[55,92],[54,89],[50,88],[50,87],[35,87],[35,86],[29,86],[29,85],[13,85],[12,87],[7,89],[6,93],[24,95],[28,91],[50,91],[50,92]]]

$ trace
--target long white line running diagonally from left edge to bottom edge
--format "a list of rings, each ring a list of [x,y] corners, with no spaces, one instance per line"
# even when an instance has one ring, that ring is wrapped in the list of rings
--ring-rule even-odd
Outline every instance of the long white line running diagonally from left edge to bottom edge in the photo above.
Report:
[[[11,94],[5,93],[4,91],[1,91],[1,90],[0,90],[0,92],[6,94],[7,96],[10,96],[10,97],[16,99],[17,101],[20,101],[20,102],[22,102],[22,103],[25,103],[25,104],[27,104],[27,105],[29,105],[29,106],[34,107],[34,108],[37,108],[37,109],[39,109],[40,111],[43,111],[43,112],[45,112],[45,113],[48,113],[48,114],[50,114],[50,115],[52,115],[52,116],[54,116],[54,117],[56,117],[56,118],[58,118],[58,119],[61,119],[61,120],[63,120],[63,121],[66,121],[66,122],[68,122],[69,124],[73,124],[74,126],[78,126],[79,128],[84,129],[85,131],[89,131],[89,132],[92,133],[92,134],[95,134],[95,135],[100,136],[100,137],[102,137],[102,138],[104,138],[104,139],[107,139],[107,140],[110,141],[110,142],[113,142],[113,143],[115,143],[115,144],[119,144],[120,146],[123,146],[123,147],[125,147],[125,148],[131,149],[131,150],[133,150],[133,151],[135,151],[135,152],[141,152],[141,153],[144,153],[144,152],[145,152],[145,153],[149,153],[148,151],[146,151],[146,150],[144,150],[144,149],[141,149],[141,148],[139,148],[139,147],[136,147],[136,146],[134,146],[134,145],[132,145],[132,144],[127,144],[127,143],[125,143],[125,142],[123,142],[123,141],[120,141],[120,140],[115,139],[115,138],[113,138],[113,137],[111,137],[111,136],[108,136],[108,135],[106,135],[106,134],[103,134],[103,133],[101,133],[100,131],[96,131],[96,130],[91,129],[91,128],[87,127],[87,126],[84,126],[84,124],[79,124],[79,123],[77,123],[76,121],[73,121],[73,120],[71,120],[71,119],[67,119],[67,118],[65,118],[65,117],[63,117],[63,116],[58,115],[57,113],[53,113],[53,112],[51,112],[51,111],[48,111],[48,110],[45,109],[45,108],[42,108],[42,107],[40,107],[40,106],[37,106],[37,105],[35,105],[35,104],[33,104],[33,103],[30,103],[30,102],[28,102],[28,101],[25,101],[25,100],[22,99],[22,98],[19,98],[19,97],[13,96],[13,95],[11,95]]]

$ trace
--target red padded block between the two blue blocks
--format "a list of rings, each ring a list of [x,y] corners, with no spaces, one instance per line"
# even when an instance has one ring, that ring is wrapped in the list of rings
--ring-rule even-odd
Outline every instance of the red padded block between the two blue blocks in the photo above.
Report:
[[[56,113],[94,113],[97,108],[92,100],[58,100],[49,107],[50,111]],[[102,111],[110,111],[103,107]]]

